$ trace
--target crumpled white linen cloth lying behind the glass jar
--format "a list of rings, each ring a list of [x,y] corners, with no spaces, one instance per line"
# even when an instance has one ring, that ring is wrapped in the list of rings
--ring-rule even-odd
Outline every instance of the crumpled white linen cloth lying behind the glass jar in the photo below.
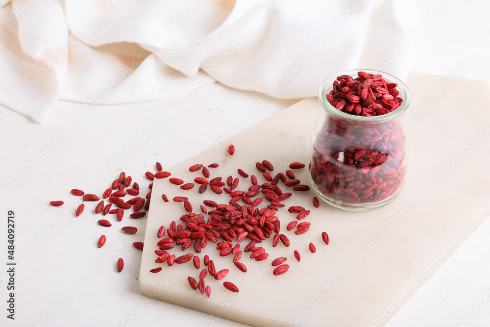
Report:
[[[0,104],[151,101],[220,81],[281,99],[339,71],[404,79],[410,0],[0,0]]]

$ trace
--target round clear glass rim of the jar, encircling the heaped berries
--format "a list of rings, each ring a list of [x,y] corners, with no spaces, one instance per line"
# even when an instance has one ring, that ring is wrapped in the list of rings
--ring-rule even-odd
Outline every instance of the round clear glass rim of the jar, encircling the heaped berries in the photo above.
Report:
[[[396,89],[400,92],[399,97],[401,97],[403,99],[400,106],[398,108],[396,108],[395,110],[393,110],[392,112],[389,112],[387,114],[380,115],[380,116],[368,117],[368,116],[351,115],[351,114],[343,112],[343,111],[335,108],[333,105],[331,105],[330,102],[327,101],[326,95],[328,92],[330,92],[330,90],[333,89],[333,82],[337,79],[337,76],[340,76],[340,75],[353,76],[353,75],[357,75],[358,72],[366,72],[368,74],[374,74],[374,75],[380,74],[383,77],[383,79],[385,79],[387,82],[398,84]],[[397,119],[398,117],[400,117],[408,109],[408,106],[410,104],[410,99],[411,99],[410,91],[409,91],[407,85],[402,80],[400,80],[399,78],[397,78],[391,74],[388,74],[388,73],[385,73],[382,71],[378,71],[378,70],[374,70],[374,69],[361,69],[361,68],[360,69],[350,69],[350,70],[346,70],[343,72],[336,73],[335,75],[332,75],[332,76],[328,77],[327,79],[325,79],[321,83],[319,91],[318,91],[318,100],[326,112],[328,112],[330,115],[337,117],[339,119],[353,121],[353,122],[366,122],[366,123],[369,123],[369,122],[375,122],[375,123],[391,122],[391,121]]]

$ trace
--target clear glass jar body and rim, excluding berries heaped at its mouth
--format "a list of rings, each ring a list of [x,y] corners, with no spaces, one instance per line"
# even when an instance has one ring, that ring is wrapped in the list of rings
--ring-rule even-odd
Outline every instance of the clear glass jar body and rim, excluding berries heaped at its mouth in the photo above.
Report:
[[[327,101],[337,76],[355,79],[360,71],[396,83],[394,89],[403,99],[398,108],[379,116],[355,116]],[[318,98],[323,110],[313,132],[310,180],[319,198],[348,210],[370,210],[393,201],[405,181],[400,117],[410,104],[407,86],[387,73],[349,70],[323,81]]]

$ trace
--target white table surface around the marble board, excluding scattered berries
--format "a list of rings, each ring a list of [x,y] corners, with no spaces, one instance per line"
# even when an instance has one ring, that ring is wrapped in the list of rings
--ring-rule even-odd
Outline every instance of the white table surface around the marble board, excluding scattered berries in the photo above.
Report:
[[[459,65],[467,64],[469,69],[463,77],[490,81],[490,3],[417,2],[422,21],[411,31],[416,46],[412,71],[452,75]],[[438,3],[444,9],[433,18],[431,10],[437,10]],[[138,225],[141,233],[131,235],[130,242],[129,236],[117,233],[117,228],[108,230],[107,245],[109,240],[118,239],[123,246],[117,248],[114,242],[117,253],[109,263],[95,269],[93,264],[99,262],[102,253],[96,248],[101,230],[96,221],[100,218],[89,212],[93,210],[90,204],[85,215],[73,217],[79,200],[69,192],[72,188],[103,192],[119,175],[119,169],[111,164],[117,164],[117,157],[134,142],[138,149],[121,168],[145,190],[143,173],[153,171],[155,161],[172,167],[297,101],[272,99],[262,110],[252,111],[251,106],[260,104],[261,97],[217,83],[194,94],[139,104],[91,107],[59,101],[42,125],[0,107],[0,214],[4,221],[0,226],[4,249],[0,260],[4,265],[0,269],[0,326],[244,326],[140,294],[137,278],[141,253],[127,245],[143,241],[144,220]],[[161,125],[160,117],[165,120]],[[23,171],[33,160],[37,164],[32,170]],[[25,176],[11,186],[9,179],[15,179],[17,172]],[[65,204],[51,207],[48,202],[52,200]],[[16,213],[15,321],[7,319],[5,311],[8,210]],[[68,216],[63,215],[64,210]],[[100,249],[104,254],[109,252],[107,245]],[[115,271],[119,256],[125,260],[122,273]],[[386,326],[489,326],[488,276],[489,220],[402,309],[387,315],[391,320]],[[162,287],[165,282],[163,278]]]

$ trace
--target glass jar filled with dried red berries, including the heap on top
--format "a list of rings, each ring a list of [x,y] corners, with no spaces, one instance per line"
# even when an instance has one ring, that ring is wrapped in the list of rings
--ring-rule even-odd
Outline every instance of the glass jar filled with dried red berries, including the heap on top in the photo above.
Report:
[[[410,92],[401,80],[379,71],[338,75],[319,89],[323,110],[313,132],[311,183],[336,207],[375,209],[393,201],[405,181],[400,117]]]

